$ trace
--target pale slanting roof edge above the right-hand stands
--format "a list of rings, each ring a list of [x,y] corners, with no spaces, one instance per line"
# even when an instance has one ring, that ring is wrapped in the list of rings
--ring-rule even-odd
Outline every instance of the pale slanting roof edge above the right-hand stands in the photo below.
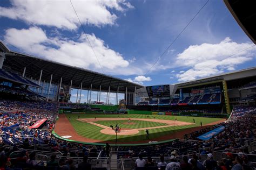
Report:
[[[230,80],[237,80],[243,79],[246,77],[256,76],[256,67],[246,68],[241,70],[236,70],[234,72],[228,72],[218,75],[213,75],[210,77],[205,77],[203,79],[191,80],[187,82],[177,83],[176,85],[178,88],[186,88],[186,87],[193,87],[198,85],[204,84],[212,84],[217,82],[222,82],[223,80],[230,81]]]

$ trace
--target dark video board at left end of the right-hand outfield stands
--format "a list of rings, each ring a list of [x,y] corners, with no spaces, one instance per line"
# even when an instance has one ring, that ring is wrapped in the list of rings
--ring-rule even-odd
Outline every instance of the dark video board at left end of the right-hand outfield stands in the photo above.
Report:
[[[151,98],[170,97],[170,85],[147,86],[147,94]]]

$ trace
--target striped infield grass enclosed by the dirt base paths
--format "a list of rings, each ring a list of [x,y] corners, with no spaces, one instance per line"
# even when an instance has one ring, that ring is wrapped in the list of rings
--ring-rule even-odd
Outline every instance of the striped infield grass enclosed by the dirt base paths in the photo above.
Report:
[[[130,128],[130,129],[138,129],[138,128],[149,128],[149,127],[156,127],[156,126],[165,126],[167,125],[166,123],[159,123],[159,122],[146,122],[146,121],[137,121],[137,120],[132,120],[131,123],[136,123],[136,124],[123,124],[123,123],[128,123],[126,120],[119,120],[119,121],[97,121],[95,123],[110,127],[116,126],[118,123],[120,128]]]

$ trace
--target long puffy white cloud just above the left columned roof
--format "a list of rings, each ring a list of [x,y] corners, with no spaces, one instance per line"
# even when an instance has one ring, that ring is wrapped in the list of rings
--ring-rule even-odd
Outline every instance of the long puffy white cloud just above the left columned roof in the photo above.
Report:
[[[97,38],[94,34],[87,34],[87,37],[90,39],[100,65],[107,73],[129,66],[129,61],[126,61],[122,54],[105,45],[102,39]],[[32,53],[71,66],[93,70],[100,68],[85,34],[80,35],[77,41],[63,40],[58,37],[47,37],[39,27],[30,27],[27,30],[8,29],[4,39],[29,54]]]

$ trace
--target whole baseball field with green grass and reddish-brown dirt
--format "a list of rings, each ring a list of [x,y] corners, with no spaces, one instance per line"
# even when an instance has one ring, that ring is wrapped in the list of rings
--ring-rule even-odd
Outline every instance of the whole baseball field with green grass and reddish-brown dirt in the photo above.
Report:
[[[193,122],[195,120],[195,123]],[[62,114],[55,133],[70,141],[85,143],[140,144],[183,138],[185,133],[224,122],[225,119],[167,115]],[[120,132],[115,132],[118,124]],[[113,126],[113,129],[111,128]],[[146,139],[145,130],[149,130]]]

